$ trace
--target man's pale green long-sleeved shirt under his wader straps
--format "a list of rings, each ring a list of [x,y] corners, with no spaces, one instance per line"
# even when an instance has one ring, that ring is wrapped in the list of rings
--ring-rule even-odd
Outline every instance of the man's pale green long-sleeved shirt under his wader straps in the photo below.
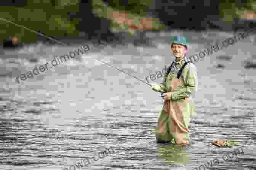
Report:
[[[161,90],[165,92],[171,91],[171,87],[168,87],[168,83],[166,83],[166,81],[171,81],[171,79],[176,78],[179,69],[186,61],[186,57],[181,61],[173,61],[173,69],[171,69],[169,74],[165,73],[164,80],[160,84]],[[191,95],[194,96],[195,91],[197,91],[197,69],[193,63],[187,64],[182,71],[180,79],[183,79],[184,85],[178,86],[176,91],[172,91],[171,100],[189,98]]]

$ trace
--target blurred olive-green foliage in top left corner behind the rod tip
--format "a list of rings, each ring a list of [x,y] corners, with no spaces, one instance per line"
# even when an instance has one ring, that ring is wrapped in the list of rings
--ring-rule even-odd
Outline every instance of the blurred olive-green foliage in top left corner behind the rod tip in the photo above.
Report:
[[[78,20],[67,19],[67,11],[79,10],[79,4],[74,2],[74,0],[27,0],[27,6],[24,7],[0,6],[0,15],[1,18],[30,30],[41,31],[46,36],[75,36],[78,35],[76,30]],[[53,6],[53,3],[56,6]],[[21,42],[37,41],[36,33],[17,25],[0,20],[0,27],[1,41],[8,36],[18,36]]]

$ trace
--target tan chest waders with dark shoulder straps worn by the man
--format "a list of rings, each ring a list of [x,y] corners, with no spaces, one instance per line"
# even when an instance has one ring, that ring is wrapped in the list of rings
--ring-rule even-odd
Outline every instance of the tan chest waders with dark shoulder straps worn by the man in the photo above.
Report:
[[[172,77],[173,75],[170,74],[173,63],[171,64],[167,71],[168,76],[165,79],[165,87],[168,86],[169,90],[166,92],[177,91],[180,87],[184,87],[183,79],[179,78],[188,63],[192,62],[185,62],[176,77]],[[189,115],[187,115],[187,108],[189,108],[189,98],[165,101],[164,108],[158,118],[157,142],[165,143],[174,139],[178,145],[189,143]]]

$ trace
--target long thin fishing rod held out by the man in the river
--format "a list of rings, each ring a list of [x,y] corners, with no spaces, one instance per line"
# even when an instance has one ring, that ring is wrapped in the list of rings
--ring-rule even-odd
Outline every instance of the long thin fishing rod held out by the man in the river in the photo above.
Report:
[[[4,20],[4,21],[9,22],[9,23],[11,23],[11,24],[13,24],[13,25],[16,25],[16,26],[18,26],[18,27],[24,28],[24,29],[26,29],[26,30],[29,30],[29,31],[31,31],[31,32],[33,32],[33,33],[36,33],[37,35],[44,36],[45,38],[51,39],[51,40],[53,40],[53,41],[55,41],[55,42],[57,42],[57,43],[59,43],[59,44],[61,44],[61,45],[63,45],[63,46],[69,46],[68,44],[65,44],[65,43],[63,43],[63,42],[61,42],[61,41],[58,41],[58,40],[54,39],[54,38],[45,36],[45,35],[43,35],[42,33],[38,33],[37,31],[31,30],[31,29],[29,29],[29,28],[27,28],[27,27],[24,27],[24,26],[22,26],[22,25],[16,24],[16,23],[14,23],[14,22],[12,22],[12,21],[10,21],[10,20],[6,20],[6,19],[4,19],[4,18],[0,18],[0,20]],[[93,58],[94,58],[95,60],[97,60],[97,61],[100,61],[101,63],[104,63],[104,64],[106,64],[106,65],[108,65],[108,66],[110,66],[110,67],[112,67],[112,68],[114,68],[114,69],[117,69],[118,71],[121,71],[121,72],[125,73],[126,75],[128,75],[128,76],[130,76],[130,77],[133,77],[134,79],[137,79],[137,80],[141,81],[142,83],[145,83],[145,84],[147,84],[147,85],[150,85],[150,87],[152,87],[152,85],[151,85],[150,83],[147,83],[147,82],[145,82],[145,81],[139,79],[138,77],[132,76],[131,74],[126,73],[125,71],[123,71],[123,70],[121,70],[121,69],[118,69],[118,68],[115,67],[115,66],[110,65],[110,64],[107,63],[106,61],[99,60],[98,58],[95,58],[95,57],[93,57]],[[163,97],[162,95],[163,95],[163,93],[165,93],[165,92],[164,92],[164,91],[158,91],[158,92],[160,92],[160,93],[161,93],[161,97]]]

